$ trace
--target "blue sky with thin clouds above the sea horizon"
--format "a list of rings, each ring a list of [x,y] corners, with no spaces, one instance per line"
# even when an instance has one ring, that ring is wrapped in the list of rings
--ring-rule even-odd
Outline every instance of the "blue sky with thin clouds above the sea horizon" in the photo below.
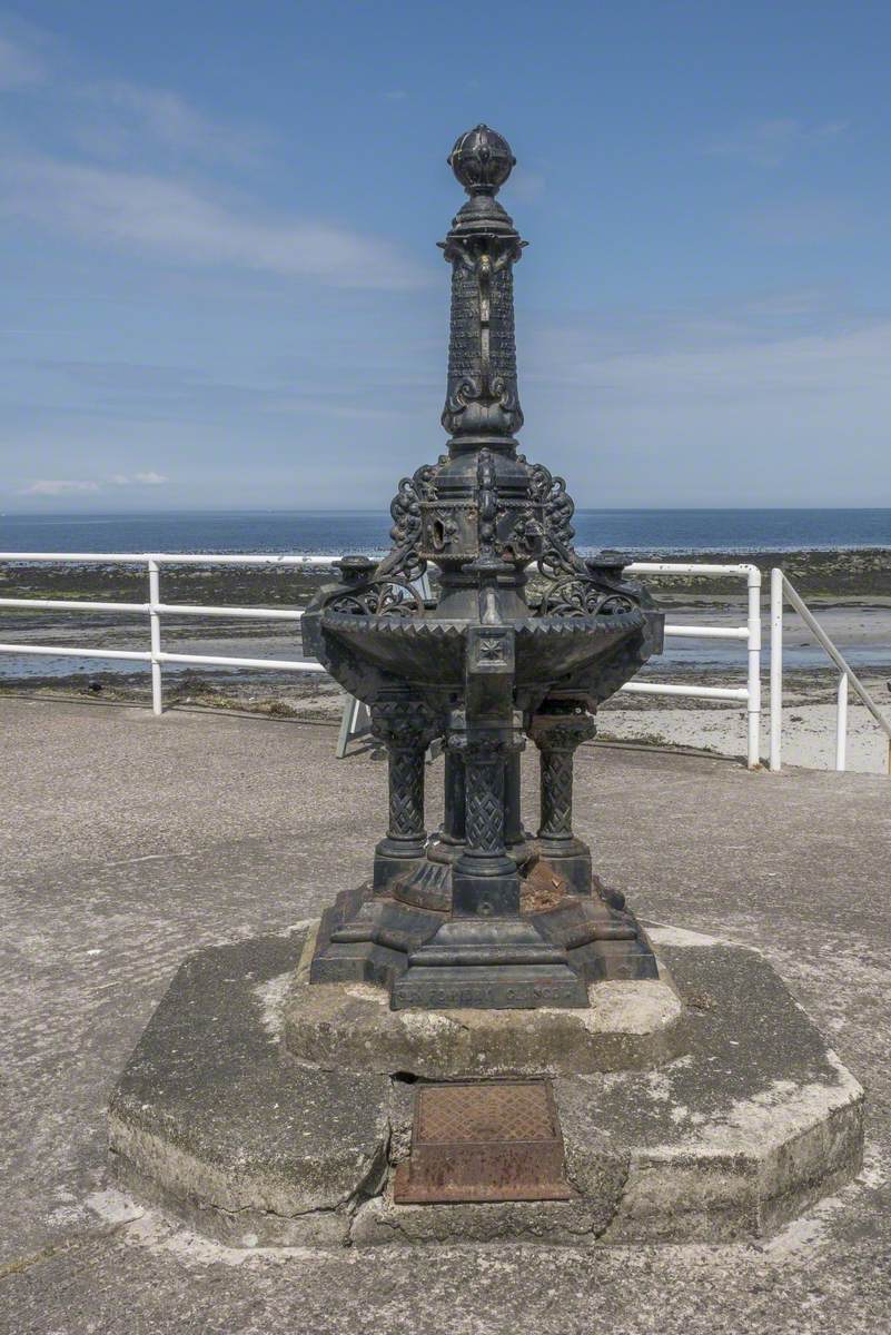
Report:
[[[0,509],[385,505],[479,120],[579,503],[891,505],[890,69],[887,0],[0,8]]]

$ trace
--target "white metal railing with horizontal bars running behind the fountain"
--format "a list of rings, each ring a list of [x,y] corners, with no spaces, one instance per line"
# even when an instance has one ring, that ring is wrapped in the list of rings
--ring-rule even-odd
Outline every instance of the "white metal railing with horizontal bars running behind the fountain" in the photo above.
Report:
[[[299,621],[301,611],[277,607],[215,607],[209,605],[193,603],[165,603],[161,602],[160,574],[164,565],[216,565],[216,566],[331,566],[339,557],[287,557],[287,555],[204,555],[204,554],[160,554],[160,553],[59,553],[59,551],[0,551],[0,561],[13,561],[21,563],[44,562],[57,565],[144,565],[148,575],[147,602],[88,602],[64,598],[0,598],[0,607],[23,607],[27,610],[57,610],[57,611],[121,611],[145,613],[149,621],[149,649],[67,649],[51,647],[47,645],[11,645],[0,643],[0,653],[8,654],[45,654],[52,657],[69,658],[123,658],[133,662],[151,663],[152,672],[152,710],[156,714],[163,709],[163,682],[161,672],[164,663],[203,663],[220,668],[255,668],[275,669],[284,672],[324,672],[321,663],[315,659],[283,659],[283,658],[231,658],[219,654],[175,654],[167,653],[161,642],[161,618],[167,615],[180,617],[229,617],[253,618],[259,621]],[[714,577],[731,577],[746,579],[748,587],[748,615],[744,626],[687,626],[667,625],[666,635],[696,639],[740,639],[746,641],[748,650],[748,672],[744,686],[698,686],[668,685],[663,682],[628,682],[622,689],[630,693],[651,696],[692,696],[702,700],[726,700],[738,705],[744,705],[748,714],[748,744],[747,761],[750,769],[759,764],[759,730],[760,730],[760,571],[752,565],[707,565],[707,563],[679,563],[664,561],[638,561],[626,566],[628,574],[647,575],[678,575],[696,574]],[[352,724],[347,725],[348,733]],[[339,750],[345,746],[347,737],[341,736]]]

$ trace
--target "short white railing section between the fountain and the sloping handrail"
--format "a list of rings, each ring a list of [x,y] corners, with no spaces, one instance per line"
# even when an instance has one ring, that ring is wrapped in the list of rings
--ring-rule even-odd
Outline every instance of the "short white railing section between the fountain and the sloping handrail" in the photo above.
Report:
[[[747,738],[746,764],[758,769],[760,764],[762,729],[762,573],[748,563],[719,566],[707,562],[635,561],[626,566],[626,574],[647,575],[714,575],[715,578],[744,579],[748,591],[744,626],[674,626],[666,625],[666,635],[691,639],[744,639],[747,645],[747,672],[744,686],[684,686],[662,682],[630,681],[620,689],[632,694],[695,696],[700,700],[730,700],[746,706]]]

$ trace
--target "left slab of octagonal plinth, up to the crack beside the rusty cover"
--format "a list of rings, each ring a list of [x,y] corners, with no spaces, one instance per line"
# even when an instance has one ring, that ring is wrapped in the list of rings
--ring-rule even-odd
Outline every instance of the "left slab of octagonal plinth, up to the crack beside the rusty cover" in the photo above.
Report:
[[[115,1088],[119,1181],[223,1242],[343,1244],[385,1173],[389,1081],[289,1068],[257,993],[303,936],[215,947],[177,971]]]

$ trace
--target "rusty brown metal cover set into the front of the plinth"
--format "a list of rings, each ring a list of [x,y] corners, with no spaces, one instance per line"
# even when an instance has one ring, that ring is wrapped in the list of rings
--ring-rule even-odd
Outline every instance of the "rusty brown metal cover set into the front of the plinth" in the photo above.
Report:
[[[563,1136],[547,1080],[421,1085],[396,1204],[570,1200]]]

